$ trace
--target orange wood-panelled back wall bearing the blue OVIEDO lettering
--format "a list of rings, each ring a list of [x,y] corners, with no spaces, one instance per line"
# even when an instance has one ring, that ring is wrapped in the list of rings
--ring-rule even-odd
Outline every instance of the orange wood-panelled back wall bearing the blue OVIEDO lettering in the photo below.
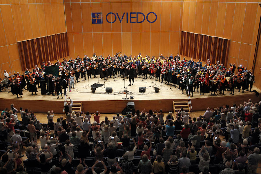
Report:
[[[70,57],[179,52],[183,2],[65,0]],[[101,15],[102,13],[102,23]],[[95,16],[96,15],[96,16]],[[157,16],[157,19],[155,18]],[[97,21],[95,18],[98,18]],[[130,18],[131,17],[131,18]],[[155,22],[154,22],[155,21]]]

